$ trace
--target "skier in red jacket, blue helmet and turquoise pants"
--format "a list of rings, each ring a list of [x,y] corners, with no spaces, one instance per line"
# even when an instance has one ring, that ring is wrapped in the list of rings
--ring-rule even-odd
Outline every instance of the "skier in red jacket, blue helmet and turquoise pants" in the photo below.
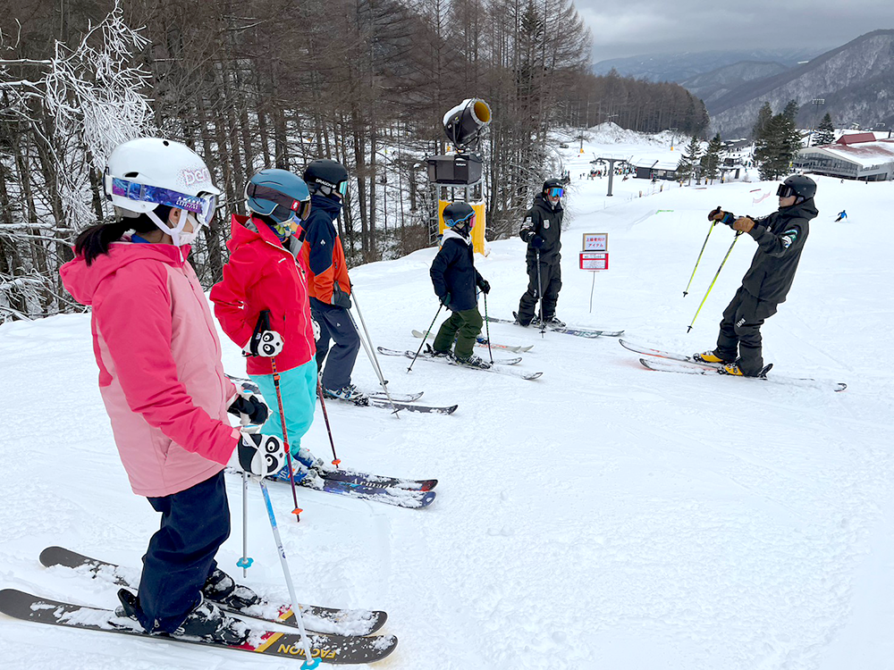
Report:
[[[314,423],[316,346],[307,270],[293,233],[308,218],[310,192],[298,175],[268,169],[249,180],[245,197],[251,214],[232,215],[230,260],[210,297],[223,332],[249,355],[249,377],[270,403],[264,430],[283,437],[271,360],[276,364],[286,434],[295,456],[292,476],[300,482],[310,473],[308,466],[322,465],[300,448],[301,437]],[[279,474],[288,479],[288,467]]]

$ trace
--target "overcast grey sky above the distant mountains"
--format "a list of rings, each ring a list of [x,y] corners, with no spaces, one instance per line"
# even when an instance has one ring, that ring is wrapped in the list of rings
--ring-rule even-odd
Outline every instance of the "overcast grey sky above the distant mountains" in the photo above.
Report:
[[[822,51],[894,29],[894,0],[574,0],[593,62],[639,54],[799,48]]]

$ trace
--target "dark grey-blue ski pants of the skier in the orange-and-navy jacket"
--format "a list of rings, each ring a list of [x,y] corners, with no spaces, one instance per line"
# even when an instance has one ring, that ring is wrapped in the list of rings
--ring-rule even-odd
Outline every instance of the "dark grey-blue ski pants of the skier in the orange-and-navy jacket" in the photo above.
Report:
[[[350,384],[350,373],[354,370],[360,348],[360,336],[354,322],[350,320],[348,310],[326,305],[316,297],[310,298],[310,314],[320,324],[320,339],[316,340],[316,367],[323,371],[323,388],[343,389]],[[335,345],[330,350],[332,341]]]

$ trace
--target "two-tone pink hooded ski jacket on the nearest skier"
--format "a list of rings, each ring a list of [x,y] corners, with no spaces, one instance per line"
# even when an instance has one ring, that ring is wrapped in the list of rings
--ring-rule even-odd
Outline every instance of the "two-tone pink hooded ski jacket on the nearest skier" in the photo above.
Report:
[[[122,241],[89,266],[78,257],[60,270],[72,296],[93,306],[105,410],[131,488],[148,498],[219,473],[239,439],[226,414],[236,389],[223,374],[205,294],[180,251]]]

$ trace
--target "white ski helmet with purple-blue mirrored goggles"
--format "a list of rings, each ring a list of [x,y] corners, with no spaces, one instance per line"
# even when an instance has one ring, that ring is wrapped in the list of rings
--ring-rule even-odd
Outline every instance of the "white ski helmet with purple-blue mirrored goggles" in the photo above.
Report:
[[[188,212],[199,224],[210,222],[221,190],[211,181],[207,165],[190,147],[162,138],[131,139],[114,148],[105,165],[103,190],[119,216],[148,214],[174,244],[188,243],[181,236]],[[181,221],[171,228],[153,210],[158,205],[183,210]],[[198,232],[195,231],[195,232]],[[195,234],[190,234],[194,239]],[[191,241],[191,240],[190,240]]]

